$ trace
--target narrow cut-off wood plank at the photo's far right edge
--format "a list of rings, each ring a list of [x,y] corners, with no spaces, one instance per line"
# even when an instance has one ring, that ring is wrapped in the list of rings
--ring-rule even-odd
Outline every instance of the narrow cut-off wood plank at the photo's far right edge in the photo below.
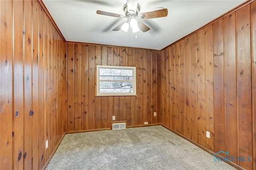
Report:
[[[253,168],[256,169],[256,2],[251,4],[252,27],[252,138]]]

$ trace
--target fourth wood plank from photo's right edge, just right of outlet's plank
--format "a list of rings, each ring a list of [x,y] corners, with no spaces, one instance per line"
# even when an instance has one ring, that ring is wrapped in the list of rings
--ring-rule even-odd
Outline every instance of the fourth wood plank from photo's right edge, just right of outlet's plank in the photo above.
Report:
[[[223,20],[213,24],[215,152],[225,150]]]

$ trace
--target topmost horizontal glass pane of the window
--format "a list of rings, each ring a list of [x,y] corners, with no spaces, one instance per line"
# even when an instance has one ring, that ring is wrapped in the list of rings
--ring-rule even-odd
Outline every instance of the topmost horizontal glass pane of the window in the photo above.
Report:
[[[132,70],[100,68],[100,76],[132,76]]]

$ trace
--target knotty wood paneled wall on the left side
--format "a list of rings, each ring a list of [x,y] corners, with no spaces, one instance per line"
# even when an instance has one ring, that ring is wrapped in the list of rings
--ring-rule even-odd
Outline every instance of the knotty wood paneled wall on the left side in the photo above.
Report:
[[[31,0],[0,1],[0,40],[0,169],[42,169],[66,131],[65,42]]]

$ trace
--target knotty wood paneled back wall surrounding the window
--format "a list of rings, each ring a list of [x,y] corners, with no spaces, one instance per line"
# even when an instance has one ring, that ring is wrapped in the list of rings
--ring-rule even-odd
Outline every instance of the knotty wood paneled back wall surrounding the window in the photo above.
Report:
[[[68,43],[68,131],[156,124],[156,51]],[[96,65],[136,66],[138,96],[95,97]],[[116,120],[112,120],[116,116]]]

